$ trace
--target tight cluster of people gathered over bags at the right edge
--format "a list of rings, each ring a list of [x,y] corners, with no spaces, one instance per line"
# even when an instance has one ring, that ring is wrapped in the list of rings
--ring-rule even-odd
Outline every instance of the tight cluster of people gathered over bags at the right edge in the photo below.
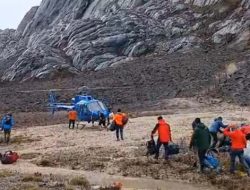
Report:
[[[244,149],[247,148],[247,140],[250,140],[250,126],[238,126],[237,124],[224,125],[222,117],[214,120],[210,128],[201,122],[200,118],[196,118],[192,124],[193,135],[190,142],[190,149],[194,148],[198,153],[200,172],[204,172],[205,155],[209,149],[217,146],[218,133],[223,135],[219,143],[219,147],[223,146],[225,139],[230,139],[230,173],[235,173],[235,162],[238,157],[240,163],[244,166],[247,175],[250,176],[250,166],[244,158]],[[211,143],[212,142],[212,143]]]

